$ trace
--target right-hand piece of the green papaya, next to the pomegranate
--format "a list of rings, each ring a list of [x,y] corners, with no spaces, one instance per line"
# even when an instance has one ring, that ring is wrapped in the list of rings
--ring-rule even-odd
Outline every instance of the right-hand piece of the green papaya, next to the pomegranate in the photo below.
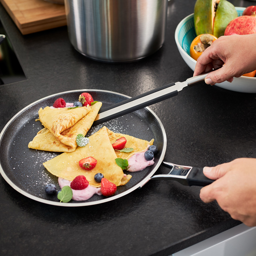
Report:
[[[215,13],[213,35],[217,38],[224,36],[227,25],[235,18],[237,18],[235,7],[226,0],[220,0]]]

